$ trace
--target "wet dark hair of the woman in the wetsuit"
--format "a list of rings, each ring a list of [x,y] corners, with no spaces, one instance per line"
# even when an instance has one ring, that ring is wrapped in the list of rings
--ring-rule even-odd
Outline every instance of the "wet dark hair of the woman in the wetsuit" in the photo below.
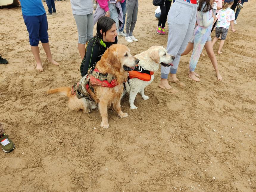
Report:
[[[113,24],[115,24],[115,21],[109,17],[101,17],[99,18],[98,22],[97,22],[97,26],[96,26],[96,35],[95,35],[95,39],[96,42],[100,43],[100,40],[103,40],[103,33],[106,34],[106,32],[108,30],[110,30],[113,26]],[[100,33],[100,30],[102,30],[102,34]]]

